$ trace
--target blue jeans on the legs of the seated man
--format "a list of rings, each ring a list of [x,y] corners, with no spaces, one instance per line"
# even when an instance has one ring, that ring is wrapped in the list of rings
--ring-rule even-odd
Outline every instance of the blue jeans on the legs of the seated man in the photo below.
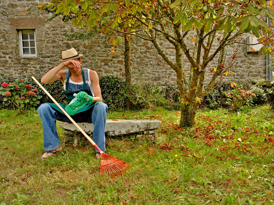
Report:
[[[44,149],[45,151],[56,149],[60,146],[60,140],[56,129],[56,120],[62,122],[71,122],[66,115],[55,110],[49,104],[41,104],[37,109],[42,125],[43,125],[43,138],[44,138]],[[106,119],[108,113],[108,106],[99,102],[91,109],[77,113],[73,116],[75,122],[89,122],[94,124],[94,129],[92,133],[92,139],[95,144],[102,150],[106,151],[106,138],[105,138],[105,128]],[[99,152],[95,148],[96,152]]]

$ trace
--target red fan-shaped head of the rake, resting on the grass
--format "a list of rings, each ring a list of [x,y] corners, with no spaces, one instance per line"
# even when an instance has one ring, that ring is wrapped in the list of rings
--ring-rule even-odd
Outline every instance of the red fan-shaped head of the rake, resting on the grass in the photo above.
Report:
[[[101,175],[107,177],[115,177],[116,175],[120,176],[125,170],[129,168],[129,164],[116,159],[112,156],[107,155],[106,153],[101,153]]]

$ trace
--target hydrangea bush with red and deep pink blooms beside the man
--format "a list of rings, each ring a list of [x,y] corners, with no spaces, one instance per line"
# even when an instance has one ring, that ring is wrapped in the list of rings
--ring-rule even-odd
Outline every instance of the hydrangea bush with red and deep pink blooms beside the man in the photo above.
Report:
[[[1,83],[0,94],[5,96],[3,101],[13,109],[35,110],[40,104],[42,95],[36,88],[32,88],[26,79],[15,79],[13,83]]]

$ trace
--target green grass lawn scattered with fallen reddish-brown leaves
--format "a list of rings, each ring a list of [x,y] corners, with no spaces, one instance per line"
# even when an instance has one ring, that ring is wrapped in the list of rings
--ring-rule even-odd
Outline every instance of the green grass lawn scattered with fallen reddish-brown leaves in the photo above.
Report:
[[[273,111],[239,113],[201,110],[183,129],[176,111],[109,111],[108,119],[162,120],[155,142],[107,139],[106,153],[130,165],[112,179],[100,176],[88,141],[64,143],[58,126],[63,150],[41,160],[38,113],[0,110],[0,204],[274,204]]]

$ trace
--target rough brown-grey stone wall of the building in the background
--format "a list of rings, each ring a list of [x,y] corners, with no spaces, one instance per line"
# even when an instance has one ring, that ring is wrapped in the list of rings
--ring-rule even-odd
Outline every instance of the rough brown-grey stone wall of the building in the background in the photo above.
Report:
[[[99,77],[104,75],[124,76],[123,42],[116,46],[116,56],[108,53],[112,50],[108,36],[96,35],[90,40],[68,39],[64,33],[77,31],[71,24],[56,18],[50,22],[44,20],[51,15],[40,12],[37,6],[45,0],[0,0],[0,72],[9,76],[42,77],[48,70],[58,65],[61,51],[74,47],[83,54],[82,65],[95,70]],[[37,58],[20,58],[18,29],[35,28]],[[169,58],[174,60],[175,49],[168,42],[160,42]],[[215,45],[217,46],[217,45]],[[157,54],[153,45],[138,38],[131,38],[131,69],[133,81],[156,85],[176,84],[175,72]],[[236,45],[226,49],[226,58],[230,58]],[[265,79],[266,57],[257,53],[244,55],[240,47],[237,65],[232,69],[236,76],[225,76],[225,79]],[[184,56],[185,70],[189,63]],[[216,59],[217,60],[217,59]],[[209,81],[210,70],[216,66],[216,60],[208,66],[206,81]]]

